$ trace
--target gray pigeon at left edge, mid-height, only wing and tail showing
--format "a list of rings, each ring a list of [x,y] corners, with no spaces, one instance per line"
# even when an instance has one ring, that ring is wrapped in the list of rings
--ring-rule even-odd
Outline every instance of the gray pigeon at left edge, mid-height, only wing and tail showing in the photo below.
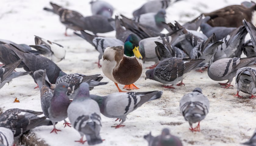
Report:
[[[29,72],[14,71],[15,68],[20,64],[21,61],[22,61],[22,59],[14,62],[12,64],[2,66],[0,68],[0,89],[5,85],[5,83],[9,84],[9,82],[11,82],[13,78],[17,78],[17,77],[20,77],[23,75],[30,74],[30,71]]]

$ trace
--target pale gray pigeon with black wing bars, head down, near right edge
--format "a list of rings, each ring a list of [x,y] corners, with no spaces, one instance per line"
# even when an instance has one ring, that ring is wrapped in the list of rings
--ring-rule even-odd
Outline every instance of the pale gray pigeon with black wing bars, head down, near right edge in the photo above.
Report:
[[[256,56],[245,57],[245,58],[223,58],[219,59],[208,67],[208,76],[214,81],[228,80],[226,83],[219,83],[223,85],[222,88],[229,88],[233,78],[236,76],[236,71],[239,68],[246,67],[253,63]]]

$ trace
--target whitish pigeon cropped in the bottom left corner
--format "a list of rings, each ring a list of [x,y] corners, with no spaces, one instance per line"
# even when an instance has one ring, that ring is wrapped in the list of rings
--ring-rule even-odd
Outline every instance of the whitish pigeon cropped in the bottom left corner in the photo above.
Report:
[[[12,146],[14,143],[13,135],[10,129],[0,127],[0,146]]]

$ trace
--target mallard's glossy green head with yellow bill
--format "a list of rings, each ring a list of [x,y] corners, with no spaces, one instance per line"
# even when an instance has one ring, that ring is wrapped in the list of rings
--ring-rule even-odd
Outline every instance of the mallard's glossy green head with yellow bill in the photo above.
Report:
[[[142,59],[142,56],[139,51],[139,39],[134,34],[130,34],[124,43],[124,54],[126,56],[135,57]]]

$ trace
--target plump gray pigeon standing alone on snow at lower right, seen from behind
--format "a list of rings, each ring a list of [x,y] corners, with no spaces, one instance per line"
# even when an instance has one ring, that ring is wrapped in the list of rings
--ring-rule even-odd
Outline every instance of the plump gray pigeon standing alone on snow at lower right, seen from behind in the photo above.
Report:
[[[184,116],[184,119],[188,121],[193,131],[200,131],[200,121],[204,120],[208,114],[210,103],[207,96],[202,94],[201,88],[195,88],[193,92],[184,95],[180,99],[180,112]],[[192,124],[197,123],[197,127],[193,128]]]

